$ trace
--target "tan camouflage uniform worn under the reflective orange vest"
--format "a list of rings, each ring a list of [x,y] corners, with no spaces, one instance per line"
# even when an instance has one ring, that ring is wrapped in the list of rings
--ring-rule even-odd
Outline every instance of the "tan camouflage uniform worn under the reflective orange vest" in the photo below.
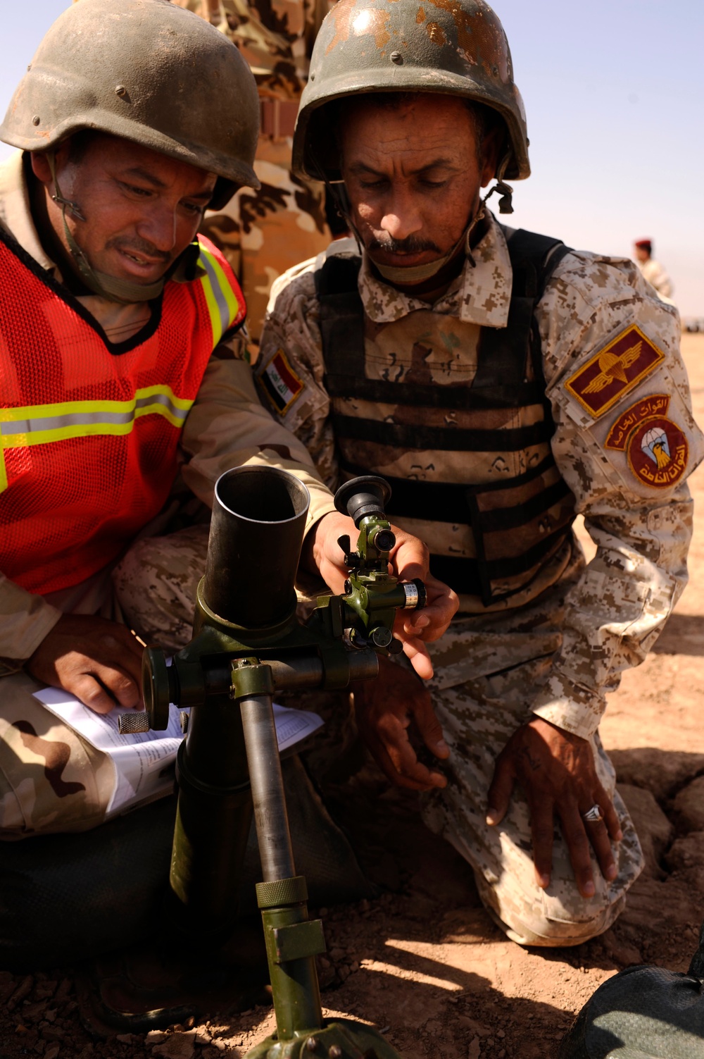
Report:
[[[0,165],[0,226],[60,282],[32,219],[20,152]],[[113,342],[125,341],[149,319],[144,303],[120,305],[95,294],[79,301]],[[94,827],[111,794],[109,758],[39,703],[33,696],[39,685],[22,671],[62,613],[125,621],[166,650],[187,643],[205,563],[207,507],[215,482],[231,467],[281,467],[300,478],[311,493],[307,528],[335,510],[303,445],[261,408],[243,355],[238,335],[214,351],[184,423],[183,464],[172,498],[115,569],[49,596],[0,573],[0,839]],[[192,510],[199,505],[205,522]],[[182,528],[172,533],[177,526]]]

